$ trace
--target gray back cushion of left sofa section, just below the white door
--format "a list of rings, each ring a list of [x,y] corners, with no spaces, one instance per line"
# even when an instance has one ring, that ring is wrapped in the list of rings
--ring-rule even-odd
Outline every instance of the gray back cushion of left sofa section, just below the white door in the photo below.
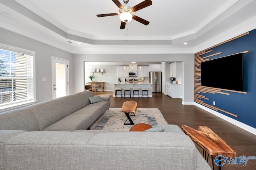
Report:
[[[64,104],[68,115],[84,107],[84,102],[75,94],[57,98],[56,100],[60,100]]]

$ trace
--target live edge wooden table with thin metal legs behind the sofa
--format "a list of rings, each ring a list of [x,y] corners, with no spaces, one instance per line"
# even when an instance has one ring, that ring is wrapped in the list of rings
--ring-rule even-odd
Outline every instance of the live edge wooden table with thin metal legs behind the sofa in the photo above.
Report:
[[[236,152],[232,150],[225,141],[223,141],[216,133],[207,126],[198,126],[198,130],[193,129],[187,125],[181,126],[182,131],[188,135],[192,141],[203,149],[203,155],[206,160],[206,152],[211,156],[222,155],[224,157],[235,157]],[[219,157],[220,158],[220,157]],[[207,158],[208,162],[208,158]],[[220,164],[220,162],[219,162]],[[214,170],[213,158],[212,168]],[[221,166],[219,166],[221,170]]]

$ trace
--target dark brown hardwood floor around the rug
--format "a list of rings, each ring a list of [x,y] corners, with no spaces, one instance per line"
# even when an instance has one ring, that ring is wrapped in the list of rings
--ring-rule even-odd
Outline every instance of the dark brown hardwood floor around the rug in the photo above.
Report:
[[[113,92],[93,92],[97,94],[113,94]],[[256,135],[233,125],[208,111],[194,105],[182,105],[182,99],[170,98],[163,93],[153,93],[152,98],[114,98],[110,99],[110,107],[122,107],[125,101],[135,101],[140,108],[159,108],[169,124],[188,125],[197,129],[200,125],[206,125],[221,137],[235,152],[236,156],[256,156]],[[250,119],[250,118],[248,118]],[[196,145],[196,144],[195,144]],[[196,145],[202,154],[202,149]],[[208,164],[212,167],[209,156]],[[218,169],[218,166],[214,166]],[[248,160],[246,166],[231,165],[227,162],[222,166],[222,170],[255,170],[256,160]]]

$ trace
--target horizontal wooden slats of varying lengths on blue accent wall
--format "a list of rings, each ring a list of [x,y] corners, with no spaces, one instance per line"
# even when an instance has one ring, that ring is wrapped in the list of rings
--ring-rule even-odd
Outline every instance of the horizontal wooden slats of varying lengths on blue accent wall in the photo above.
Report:
[[[207,94],[207,93],[210,93],[210,94],[223,94],[223,95],[230,95],[229,93],[227,92],[236,92],[236,93],[242,93],[242,94],[247,94],[247,92],[240,92],[240,91],[235,91],[235,90],[227,90],[227,89],[221,89],[221,88],[212,88],[212,87],[206,87],[206,86],[202,86],[201,83],[199,83],[199,81],[201,80],[199,77],[201,77],[201,69],[199,68],[200,65],[201,65],[201,62],[204,62],[204,61],[208,61],[209,57],[212,57],[214,55],[219,55],[221,54],[222,52],[219,51],[217,53],[214,53],[212,55],[208,55],[206,57],[201,57],[202,55],[204,54],[207,54],[207,53],[210,53],[210,52],[213,52],[213,48],[214,47],[217,47],[218,45],[222,45],[224,43],[227,43],[229,41],[232,41],[234,39],[237,39],[237,38],[240,38],[244,35],[247,35],[249,34],[249,32],[247,33],[244,33],[242,35],[239,35],[237,37],[234,37],[232,39],[229,39],[223,43],[219,43],[217,45],[214,45],[213,47],[210,47],[208,49],[205,49],[203,51],[199,51],[198,53],[195,54],[195,61],[194,61],[194,65],[195,65],[195,69],[194,69],[194,102],[198,103],[198,104],[201,104],[203,106],[206,106],[210,109],[213,109],[215,111],[222,111],[224,113],[227,113],[229,115],[232,115],[234,117],[238,117],[238,115],[235,115],[233,113],[230,113],[228,111],[225,111],[225,110],[222,110],[222,109],[219,109],[217,107],[214,107],[214,106],[211,106],[209,104],[206,104],[204,103],[204,100],[210,100],[209,98],[206,98],[206,96],[202,95],[202,94]],[[211,50],[210,50],[211,49]],[[248,53],[249,51],[243,51],[241,53]],[[223,92],[223,91],[227,91],[227,92]]]

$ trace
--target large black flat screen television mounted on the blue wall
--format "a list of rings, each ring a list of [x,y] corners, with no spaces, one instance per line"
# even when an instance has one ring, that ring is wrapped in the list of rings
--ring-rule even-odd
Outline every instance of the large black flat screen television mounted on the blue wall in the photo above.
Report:
[[[201,85],[243,91],[243,54],[202,62]]]

